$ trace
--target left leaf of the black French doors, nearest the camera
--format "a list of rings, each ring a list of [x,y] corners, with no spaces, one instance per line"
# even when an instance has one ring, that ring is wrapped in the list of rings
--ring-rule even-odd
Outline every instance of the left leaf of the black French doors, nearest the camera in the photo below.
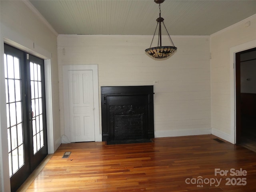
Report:
[[[23,81],[26,62],[24,53],[11,46],[4,45],[4,70],[6,83],[6,114],[9,151],[9,173],[11,189],[15,191],[30,174],[26,81]]]

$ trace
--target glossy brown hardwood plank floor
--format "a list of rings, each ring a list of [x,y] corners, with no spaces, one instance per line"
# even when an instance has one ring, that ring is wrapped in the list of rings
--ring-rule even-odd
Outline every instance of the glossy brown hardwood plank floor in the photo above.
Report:
[[[145,144],[62,144],[26,191],[256,192],[256,153],[213,138],[217,137],[154,138]],[[70,157],[62,158],[64,152],[71,152]],[[217,168],[228,170],[227,176],[215,176]],[[237,174],[242,169],[244,175],[232,176],[232,169],[239,170]]]

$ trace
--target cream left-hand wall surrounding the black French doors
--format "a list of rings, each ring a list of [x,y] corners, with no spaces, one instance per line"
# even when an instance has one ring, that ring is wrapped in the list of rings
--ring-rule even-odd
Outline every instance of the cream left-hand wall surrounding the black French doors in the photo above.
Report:
[[[0,191],[10,191],[6,98],[4,80],[4,42],[46,59],[48,91],[52,96],[53,151],[60,145],[57,34],[52,32],[23,1],[0,1]]]

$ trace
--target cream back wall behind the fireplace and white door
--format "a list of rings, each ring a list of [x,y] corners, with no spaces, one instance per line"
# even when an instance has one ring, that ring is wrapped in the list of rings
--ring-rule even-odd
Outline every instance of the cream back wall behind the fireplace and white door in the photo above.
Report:
[[[158,81],[154,84],[156,137],[211,134],[209,36],[172,39],[178,51],[167,60],[154,60],[144,52],[152,36],[59,35],[61,134],[65,134],[62,65],[81,64],[98,64],[99,89]],[[166,37],[165,41],[170,44]]]

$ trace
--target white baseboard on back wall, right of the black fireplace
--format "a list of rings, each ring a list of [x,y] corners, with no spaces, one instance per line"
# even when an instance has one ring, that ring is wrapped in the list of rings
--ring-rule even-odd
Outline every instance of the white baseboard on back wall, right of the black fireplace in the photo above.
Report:
[[[211,128],[196,129],[196,130],[163,130],[155,131],[155,137],[177,137],[177,136],[189,136],[189,135],[206,135],[212,134]]]

